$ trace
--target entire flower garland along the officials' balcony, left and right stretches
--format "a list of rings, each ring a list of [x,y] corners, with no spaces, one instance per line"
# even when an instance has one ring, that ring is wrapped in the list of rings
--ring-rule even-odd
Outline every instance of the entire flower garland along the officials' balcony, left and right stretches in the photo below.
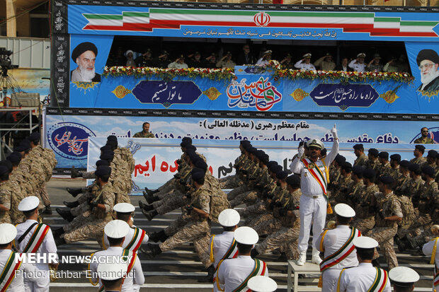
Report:
[[[304,71],[304,70],[291,70],[282,69],[279,62],[272,60],[267,66],[250,65],[253,69],[253,73],[263,73],[267,69],[273,69],[273,76],[275,80],[280,78],[288,79],[316,79],[321,80],[339,80],[342,83],[345,82],[358,82],[358,81],[397,81],[403,83],[413,83],[414,77],[406,72],[357,72],[357,71]],[[234,69],[222,68],[222,69],[208,69],[208,68],[188,68],[188,69],[161,69],[150,67],[125,67],[125,66],[106,66],[103,71],[103,76],[135,76],[137,78],[144,76],[159,76],[160,78],[174,78],[177,76],[187,76],[191,78],[201,77],[209,78],[215,81],[231,81],[236,79]]]

